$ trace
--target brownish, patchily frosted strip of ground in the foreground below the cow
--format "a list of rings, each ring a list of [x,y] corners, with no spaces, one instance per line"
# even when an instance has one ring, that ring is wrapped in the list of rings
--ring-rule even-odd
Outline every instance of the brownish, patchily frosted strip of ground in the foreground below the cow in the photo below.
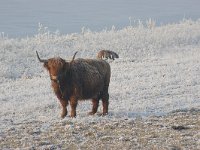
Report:
[[[200,110],[172,112],[146,119],[109,119],[80,123],[73,119],[15,124],[1,133],[1,147],[23,149],[200,149]],[[44,129],[45,128],[45,129]]]

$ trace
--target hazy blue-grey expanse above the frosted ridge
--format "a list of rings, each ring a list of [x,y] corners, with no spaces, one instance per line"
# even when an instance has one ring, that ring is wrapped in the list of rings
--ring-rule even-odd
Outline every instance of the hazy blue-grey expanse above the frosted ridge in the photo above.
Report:
[[[8,37],[37,34],[38,23],[62,34],[105,28],[123,28],[132,21],[149,18],[157,25],[176,23],[183,18],[196,20],[198,0],[6,0],[0,2],[0,33]]]

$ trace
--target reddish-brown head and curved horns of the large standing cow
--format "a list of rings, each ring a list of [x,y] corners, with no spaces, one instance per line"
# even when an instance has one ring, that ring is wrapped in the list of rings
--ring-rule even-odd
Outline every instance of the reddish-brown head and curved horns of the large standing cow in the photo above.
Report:
[[[69,71],[71,63],[74,61],[75,55],[74,54],[71,62],[66,62],[64,59],[57,57],[57,58],[50,58],[50,59],[41,59],[39,57],[38,52],[36,51],[37,58],[40,62],[44,63],[44,67],[48,70],[51,80],[55,80],[59,82],[59,79]]]

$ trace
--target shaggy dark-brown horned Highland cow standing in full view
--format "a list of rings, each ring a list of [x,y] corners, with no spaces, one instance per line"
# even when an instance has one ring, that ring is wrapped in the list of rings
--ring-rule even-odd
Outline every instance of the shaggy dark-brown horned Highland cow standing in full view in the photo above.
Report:
[[[102,115],[106,115],[109,104],[110,65],[104,60],[74,60],[76,53],[71,62],[66,62],[60,57],[43,60],[37,53],[39,61],[44,63],[49,72],[52,88],[61,103],[61,117],[67,115],[68,102],[71,106],[71,117],[75,117],[78,100],[85,99],[92,99],[90,115],[97,112],[99,100],[102,99]]]

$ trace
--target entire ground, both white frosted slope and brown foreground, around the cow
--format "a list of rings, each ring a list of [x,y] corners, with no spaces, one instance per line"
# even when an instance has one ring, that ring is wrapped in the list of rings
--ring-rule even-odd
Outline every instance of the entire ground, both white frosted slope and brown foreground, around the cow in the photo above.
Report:
[[[60,56],[69,61],[75,51],[77,57],[96,58],[100,49],[120,56],[109,61],[109,115],[88,116],[91,102],[82,101],[76,118],[61,120],[48,73],[35,51],[42,58]],[[97,149],[104,145],[107,149],[199,148],[199,20],[160,27],[150,20],[121,30],[83,28],[69,35],[40,25],[34,37],[1,35],[0,52],[0,145],[4,149],[92,149],[91,144]]]

